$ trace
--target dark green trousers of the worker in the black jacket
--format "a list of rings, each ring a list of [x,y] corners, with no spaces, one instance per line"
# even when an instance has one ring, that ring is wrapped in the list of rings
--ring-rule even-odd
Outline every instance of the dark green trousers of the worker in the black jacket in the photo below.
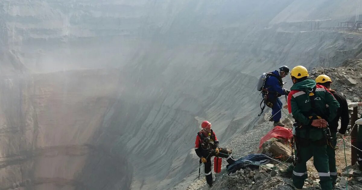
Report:
[[[331,174],[331,180],[333,186],[336,184],[337,180],[337,167],[336,167],[336,151],[334,147],[336,147],[337,144],[337,137],[336,132],[332,132],[332,138],[331,144],[327,145],[327,155],[328,155],[328,164],[329,164],[329,172]]]

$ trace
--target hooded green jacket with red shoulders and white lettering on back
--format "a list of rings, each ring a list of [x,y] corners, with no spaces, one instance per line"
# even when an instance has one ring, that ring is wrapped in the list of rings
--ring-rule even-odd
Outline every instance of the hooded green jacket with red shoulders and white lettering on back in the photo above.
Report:
[[[312,109],[311,99],[315,89],[314,102],[315,107]],[[332,122],[337,115],[337,109],[340,107],[334,96],[322,85],[317,85],[313,79],[306,79],[294,84],[290,88],[291,92],[288,95],[289,113],[296,121],[302,123],[303,127],[298,130],[301,138],[310,138],[319,140],[325,134],[324,130],[311,126],[312,119],[320,116],[327,122]],[[328,106],[328,109],[327,109]],[[309,117],[313,118],[310,119]],[[308,135],[309,133],[309,135]],[[297,132],[298,136],[298,132]],[[308,137],[309,136],[309,137]]]

